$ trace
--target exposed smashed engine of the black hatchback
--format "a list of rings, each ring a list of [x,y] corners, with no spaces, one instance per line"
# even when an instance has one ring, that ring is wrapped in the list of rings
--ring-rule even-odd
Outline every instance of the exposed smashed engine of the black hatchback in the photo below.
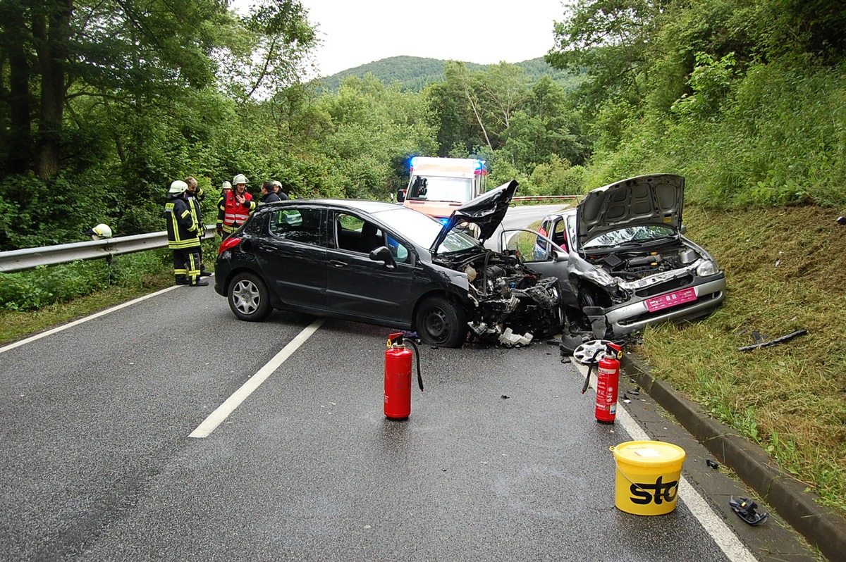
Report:
[[[470,329],[480,339],[514,333],[541,336],[560,329],[563,317],[558,278],[525,270],[514,256],[476,254],[449,267],[463,271],[470,282]]]

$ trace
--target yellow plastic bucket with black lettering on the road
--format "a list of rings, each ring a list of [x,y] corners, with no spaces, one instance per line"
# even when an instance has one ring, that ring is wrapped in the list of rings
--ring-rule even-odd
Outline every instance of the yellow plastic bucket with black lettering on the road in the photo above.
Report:
[[[662,516],[676,509],[684,449],[661,441],[627,441],[610,449],[617,461],[618,510]]]

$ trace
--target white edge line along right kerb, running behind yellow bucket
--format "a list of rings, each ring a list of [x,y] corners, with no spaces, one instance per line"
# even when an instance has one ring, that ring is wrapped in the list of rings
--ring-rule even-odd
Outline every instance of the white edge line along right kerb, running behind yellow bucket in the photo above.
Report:
[[[571,363],[579,369],[581,374],[587,375],[587,365],[582,365],[575,361]],[[591,385],[596,389],[596,370],[591,373]],[[652,440],[643,428],[634,421],[634,418],[629,415],[629,411],[619,404],[617,406],[617,421],[635,441]],[[678,498],[684,501],[684,505],[687,505],[690,513],[701,523],[705,532],[714,539],[714,543],[717,543],[717,546],[720,547],[729,560],[732,560],[732,562],[757,562],[757,559],[752,555],[750,550],[740,542],[737,535],[711,509],[711,505],[708,505],[705,498],[696,491],[696,488],[684,476],[681,477],[678,483]]]

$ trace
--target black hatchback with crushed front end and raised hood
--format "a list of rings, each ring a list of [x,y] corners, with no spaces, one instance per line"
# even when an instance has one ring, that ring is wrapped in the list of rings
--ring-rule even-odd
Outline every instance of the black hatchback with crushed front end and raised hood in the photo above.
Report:
[[[272,309],[416,331],[427,344],[460,346],[563,324],[558,280],[481,240],[502,221],[517,182],[459,207],[447,224],[405,207],[352,199],[261,206],[217,255],[215,291],[243,320]]]

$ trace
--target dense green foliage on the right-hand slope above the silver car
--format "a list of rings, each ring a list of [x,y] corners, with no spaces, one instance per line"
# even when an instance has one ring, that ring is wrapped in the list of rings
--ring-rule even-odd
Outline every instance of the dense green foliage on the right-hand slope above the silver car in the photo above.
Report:
[[[846,12],[836,0],[579,0],[547,61],[584,69],[589,185],[688,178],[688,200],[844,206]]]

